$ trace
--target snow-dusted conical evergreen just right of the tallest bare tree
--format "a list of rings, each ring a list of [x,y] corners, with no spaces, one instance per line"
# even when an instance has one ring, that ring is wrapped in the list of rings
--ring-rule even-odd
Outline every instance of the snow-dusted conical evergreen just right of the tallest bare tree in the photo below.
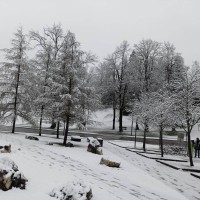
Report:
[[[54,74],[55,78],[52,82],[53,91],[57,93],[57,117],[66,124],[64,145],[67,142],[69,125],[77,122],[77,118],[80,119],[81,100],[84,99],[83,96],[87,96],[86,88],[83,89],[87,75],[86,69],[94,61],[95,57],[82,51],[75,35],[68,32],[58,55],[59,70]]]

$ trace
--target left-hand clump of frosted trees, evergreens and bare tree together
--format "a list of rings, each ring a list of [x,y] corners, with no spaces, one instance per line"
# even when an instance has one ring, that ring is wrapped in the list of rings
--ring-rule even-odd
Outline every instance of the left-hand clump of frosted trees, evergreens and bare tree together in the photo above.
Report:
[[[41,136],[43,120],[48,119],[57,122],[57,137],[62,121],[66,145],[69,125],[86,126],[91,112],[98,108],[99,96],[88,69],[96,57],[81,50],[75,34],[64,33],[61,25],[29,35],[19,28],[11,46],[3,50],[5,62],[1,63],[1,120],[12,121],[14,133],[20,116],[39,126]],[[27,56],[30,46],[35,52],[32,59]]]

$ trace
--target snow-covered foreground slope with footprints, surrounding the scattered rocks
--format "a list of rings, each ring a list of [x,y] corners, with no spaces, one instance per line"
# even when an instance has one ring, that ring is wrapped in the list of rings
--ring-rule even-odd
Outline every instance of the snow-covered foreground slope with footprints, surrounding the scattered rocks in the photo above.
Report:
[[[39,139],[27,140],[22,133],[0,133],[0,145],[12,145],[12,153],[0,154],[0,158],[11,158],[28,179],[26,190],[0,191],[2,200],[53,200],[49,196],[52,189],[80,179],[91,186],[94,200],[191,200],[199,195],[199,179],[106,141],[104,155],[100,156],[87,152],[86,138],[73,142],[74,148],[47,145],[61,143],[62,139],[48,136]],[[100,165],[102,157],[121,162],[121,168]]]

